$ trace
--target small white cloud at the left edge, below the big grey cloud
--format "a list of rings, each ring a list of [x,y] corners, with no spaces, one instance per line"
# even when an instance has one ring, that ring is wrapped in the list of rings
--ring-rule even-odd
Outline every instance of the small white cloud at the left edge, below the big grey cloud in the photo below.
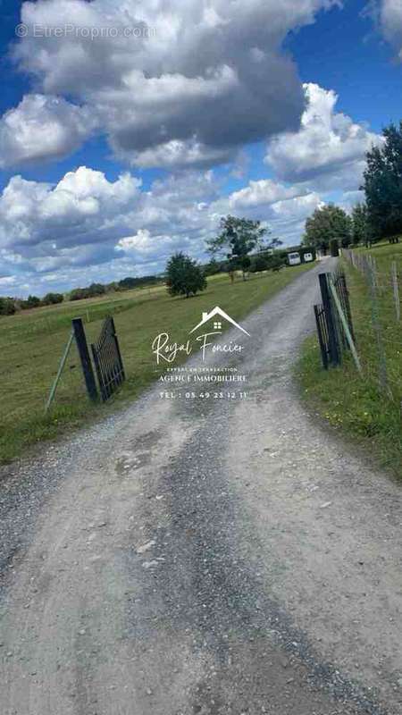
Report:
[[[61,97],[27,95],[0,119],[0,167],[68,155],[94,128],[87,108]]]

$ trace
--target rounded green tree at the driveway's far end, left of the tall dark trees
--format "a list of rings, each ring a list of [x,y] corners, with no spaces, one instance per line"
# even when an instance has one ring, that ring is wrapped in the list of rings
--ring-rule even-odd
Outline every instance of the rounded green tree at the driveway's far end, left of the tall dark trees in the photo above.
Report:
[[[352,222],[350,216],[334,204],[316,208],[314,214],[306,220],[306,233],[303,243],[328,250],[331,240],[339,240],[342,246],[348,246],[351,240]]]

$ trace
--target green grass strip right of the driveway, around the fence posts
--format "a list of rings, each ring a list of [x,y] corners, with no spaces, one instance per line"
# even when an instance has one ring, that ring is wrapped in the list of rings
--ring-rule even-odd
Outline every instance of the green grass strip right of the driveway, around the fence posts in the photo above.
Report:
[[[322,370],[315,337],[306,341],[298,375],[307,400],[332,427],[359,442],[370,456],[376,455],[382,465],[402,476],[402,337],[390,281],[391,262],[396,261],[402,289],[402,244],[381,243],[357,251],[370,254],[377,266],[377,312],[387,370],[387,391],[381,390],[380,386],[380,355],[373,330],[370,290],[364,276],[345,260],[342,260],[342,266],[347,275],[363,377],[357,374],[348,355],[340,368],[328,372]]]

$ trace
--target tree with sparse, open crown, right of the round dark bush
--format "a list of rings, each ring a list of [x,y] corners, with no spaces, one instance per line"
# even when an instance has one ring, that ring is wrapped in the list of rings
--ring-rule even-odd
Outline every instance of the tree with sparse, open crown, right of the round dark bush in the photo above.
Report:
[[[236,265],[243,271],[244,280],[249,268],[249,263],[245,260],[248,254],[257,248],[274,248],[281,243],[280,240],[273,239],[270,245],[264,246],[264,236],[269,231],[260,221],[229,215],[221,219],[220,228],[219,236],[206,242],[207,250],[212,256],[220,252],[224,254],[226,251],[231,266],[234,268]]]

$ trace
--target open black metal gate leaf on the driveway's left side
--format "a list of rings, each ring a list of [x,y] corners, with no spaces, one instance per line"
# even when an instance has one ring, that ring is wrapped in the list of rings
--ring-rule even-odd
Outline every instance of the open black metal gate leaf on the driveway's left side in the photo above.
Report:
[[[98,341],[91,345],[101,398],[108,400],[125,380],[119,341],[112,316],[105,318]]]

